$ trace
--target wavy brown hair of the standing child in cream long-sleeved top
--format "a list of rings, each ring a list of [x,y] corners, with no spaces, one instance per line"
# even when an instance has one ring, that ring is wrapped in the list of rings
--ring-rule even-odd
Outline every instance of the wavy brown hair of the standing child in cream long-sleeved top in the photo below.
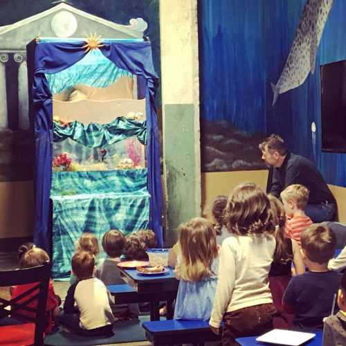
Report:
[[[275,226],[271,203],[263,190],[254,183],[238,185],[228,199],[225,223],[235,235],[273,234]]]

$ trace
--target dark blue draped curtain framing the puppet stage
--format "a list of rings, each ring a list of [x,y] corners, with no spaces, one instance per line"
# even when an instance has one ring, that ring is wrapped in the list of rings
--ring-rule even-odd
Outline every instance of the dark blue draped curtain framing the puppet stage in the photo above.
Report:
[[[138,95],[144,95],[147,116],[147,188],[151,196],[149,227],[154,230],[158,246],[163,245],[162,187],[158,125],[155,110],[157,75],[152,63],[150,42],[102,42],[102,54],[120,69],[142,80]],[[52,180],[53,102],[45,73],[57,73],[84,57],[85,42],[38,42],[35,45],[31,105],[35,136],[35,220],[34,242],[51,252],[49,197]]]

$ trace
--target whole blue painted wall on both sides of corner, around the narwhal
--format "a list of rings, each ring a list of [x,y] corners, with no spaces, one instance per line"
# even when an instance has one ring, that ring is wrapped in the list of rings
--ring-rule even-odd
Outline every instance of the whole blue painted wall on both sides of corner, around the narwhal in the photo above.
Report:
[[[334,0],[315,73],[271,106],[270,83],[280,77],[305,2],[200,1],[201,121],[227,120],[249,134],[280,134],[293,152],[316,162],[328,183],[346,186],[346,154],[322,153],[320,140],[320,65],[346,59],[346,1]]]

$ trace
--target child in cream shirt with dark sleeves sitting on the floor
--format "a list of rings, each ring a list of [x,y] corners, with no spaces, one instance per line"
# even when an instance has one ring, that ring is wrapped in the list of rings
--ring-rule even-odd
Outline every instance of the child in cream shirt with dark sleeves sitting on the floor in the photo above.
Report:
[[[78,282],[67,291],[61,322],[84,336],[111,336],[114,316],[106,286],[93,277],[94,268],[95,257],[91,253],[80,251],[73,255],[72,271]]]

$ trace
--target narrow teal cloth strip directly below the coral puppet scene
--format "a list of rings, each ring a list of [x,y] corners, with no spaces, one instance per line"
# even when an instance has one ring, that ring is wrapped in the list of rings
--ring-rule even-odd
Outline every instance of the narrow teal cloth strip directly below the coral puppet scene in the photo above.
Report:
[[[147,170],[53,172],[51,197],[122,192],[147,193]]]

